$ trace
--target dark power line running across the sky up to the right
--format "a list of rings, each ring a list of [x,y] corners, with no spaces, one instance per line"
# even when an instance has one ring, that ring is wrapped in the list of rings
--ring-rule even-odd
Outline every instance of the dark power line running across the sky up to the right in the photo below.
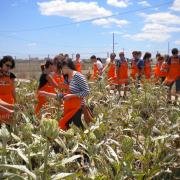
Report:
[[[88,19],[88,20],[71,22],[71,23],[66,23],[66,24],[57,24],[57,25],[43,26],[43,27],[39,27],[39,28],[30,28],[30,29],[0,30],[0,32],[2,32],[2,33],[10,33],[11,32],[12,33],[12,32],[29,32],[29,31],[41,31],[41,30],[45,30],[45,29],[53,29],[53,28],[58,28],[58,27],[70,26],[70,25],[74,25],[74,24],[87,23],[87,22],[99,20],[99,19],[102,19],[102,18],[103,19],[107,19],[107,18],[111,18],[111,17],[115,17],[115,16],[131,14],[131,13],[135,13],[135,12],[141,12],[141,11],[144,11],[144,10],[148,10],[148,9],[152,9],[152,8],[158,8],[158,7],[161,7],[161,6],[165,6],[165,5],[171,4],[172,2],[173,1],[171,0],[171,1],[167,1],[165,3],[161,3],[161,4],[154,5],[154,6],[150,6],[150,7],[133,9],[133,10],[125,11],[125,12],[119,12],[119,13],[116,13],[116,14],[112,14],[110,16],[102,16],[102,17],[98,17],[98,18],[92,18],[92,19]]]

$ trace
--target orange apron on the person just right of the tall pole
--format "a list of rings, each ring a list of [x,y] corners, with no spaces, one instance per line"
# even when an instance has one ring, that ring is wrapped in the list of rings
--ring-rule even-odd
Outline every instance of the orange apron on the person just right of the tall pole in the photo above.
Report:
[[[116,83],[118,85],[128,84],[128,62],[126,60],[122,61],[118,69]]]

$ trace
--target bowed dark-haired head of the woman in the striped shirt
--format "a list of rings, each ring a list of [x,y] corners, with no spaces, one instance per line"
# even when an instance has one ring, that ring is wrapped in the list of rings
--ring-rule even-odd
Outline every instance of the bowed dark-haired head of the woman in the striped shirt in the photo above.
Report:
[[[70,58],[59,62],[57,69],[59,72],[62,72],[63,75],[68,75],[72,71],[76,71],[76,67]]]

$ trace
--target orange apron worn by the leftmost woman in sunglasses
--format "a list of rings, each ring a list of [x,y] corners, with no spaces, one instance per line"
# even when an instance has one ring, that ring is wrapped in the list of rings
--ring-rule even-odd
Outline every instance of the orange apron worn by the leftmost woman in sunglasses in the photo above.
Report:
[[[13,105],[15,102],[13,97],[13,91],[14,91],[13,80],[10,79],[9,76],[0,77],[0,99]],[[10,123],[9,118],[10,118],[10,113],[0,110],[0,123],[9,124]]]

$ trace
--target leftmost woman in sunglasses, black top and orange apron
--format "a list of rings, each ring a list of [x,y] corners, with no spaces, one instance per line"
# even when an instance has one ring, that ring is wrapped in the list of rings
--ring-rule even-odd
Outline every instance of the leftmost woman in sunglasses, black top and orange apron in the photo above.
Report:
[[[16,101],[14,81],[16,76],[10,72],[15,67],[11,56],[4,56],[0,61],[0,124],[12,124],[12,114]]]

